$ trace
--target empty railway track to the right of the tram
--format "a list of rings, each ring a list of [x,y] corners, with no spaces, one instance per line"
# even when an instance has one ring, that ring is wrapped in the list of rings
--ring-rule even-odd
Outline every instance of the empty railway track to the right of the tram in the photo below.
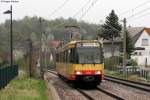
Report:
[[[112,77],[112,76],[108,76],[108,75],[105,75],[105,80],[119,83],[122,85],[126,85],[126,86],[129,86],[132,88],[140,89],[140,90],[143,90],[146,92],[150,92],[150,84],[139,83],[139,82],[116,78],[116,77]]]

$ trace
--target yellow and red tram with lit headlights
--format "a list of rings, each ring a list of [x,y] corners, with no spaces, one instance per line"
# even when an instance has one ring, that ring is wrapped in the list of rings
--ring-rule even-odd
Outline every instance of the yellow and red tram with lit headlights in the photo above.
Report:
[[[97,40],[78,40],[59,47],[56,70],[70,81],[98,85],[104,77],[103,44]]]

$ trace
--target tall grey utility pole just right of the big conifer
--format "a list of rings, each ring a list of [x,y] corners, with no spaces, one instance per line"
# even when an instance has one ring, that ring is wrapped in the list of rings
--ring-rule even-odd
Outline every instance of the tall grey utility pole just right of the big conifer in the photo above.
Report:
[[[123,19],[123,68],[126,67],[126,18]]]

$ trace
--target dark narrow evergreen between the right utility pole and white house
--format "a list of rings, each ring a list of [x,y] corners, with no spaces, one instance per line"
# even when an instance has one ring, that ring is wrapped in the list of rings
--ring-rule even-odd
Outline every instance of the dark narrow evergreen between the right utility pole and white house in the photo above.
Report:
[[[130,33],[126,31],[126,52],[127,52],[127,59],[130,59],[131,53],[134,51],[134,44],[132,42]]]

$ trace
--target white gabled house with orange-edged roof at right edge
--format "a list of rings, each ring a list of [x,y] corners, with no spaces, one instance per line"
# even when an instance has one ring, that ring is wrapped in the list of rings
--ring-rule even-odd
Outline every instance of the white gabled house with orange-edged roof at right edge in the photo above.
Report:
[[[138,65],[150,66],[150,28],[130,27],[135,51],[131,55]]]

